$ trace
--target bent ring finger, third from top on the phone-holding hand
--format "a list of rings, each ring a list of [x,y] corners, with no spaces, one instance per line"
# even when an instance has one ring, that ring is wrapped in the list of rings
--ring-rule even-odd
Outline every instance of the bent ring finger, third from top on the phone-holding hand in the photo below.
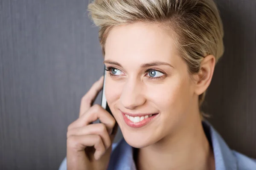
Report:
[[[99,135],[102,138],[103,144],[106,149],[111,146],[110,136],[108,134],[106,126],[103,123],[96,123],[71,129],[67,132],[67,138],[72,135]]]

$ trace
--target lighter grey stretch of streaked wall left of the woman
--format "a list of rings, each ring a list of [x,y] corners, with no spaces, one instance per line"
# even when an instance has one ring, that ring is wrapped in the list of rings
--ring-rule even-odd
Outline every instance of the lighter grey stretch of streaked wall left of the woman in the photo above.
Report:
[[[64,158],[67,125],[103,73],[87,4],[0,1],[1,170],[57,169]]]

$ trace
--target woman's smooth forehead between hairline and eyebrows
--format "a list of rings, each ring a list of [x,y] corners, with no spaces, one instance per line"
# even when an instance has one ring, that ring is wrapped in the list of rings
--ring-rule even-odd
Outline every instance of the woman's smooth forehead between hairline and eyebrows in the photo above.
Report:
[[[114,27],[105,44],[105,59],[172,62],[174,39],[156,24],[129,24]]]

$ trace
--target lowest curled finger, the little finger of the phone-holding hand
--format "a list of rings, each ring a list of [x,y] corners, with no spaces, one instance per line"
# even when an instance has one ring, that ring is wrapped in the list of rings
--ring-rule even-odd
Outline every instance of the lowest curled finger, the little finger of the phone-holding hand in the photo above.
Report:
[[[90,146],[95,148],[94,156],[96,160],[99,159],[106,151],[99,135],[73,135],[67,139],[67,153],[84,153],[84,149]]]

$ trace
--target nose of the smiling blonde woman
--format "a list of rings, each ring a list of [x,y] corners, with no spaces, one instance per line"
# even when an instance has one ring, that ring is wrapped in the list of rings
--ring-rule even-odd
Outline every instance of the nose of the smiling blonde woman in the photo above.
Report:
[[[134,109],[145,103],[142,82],[127,80],[120,96],[121,104],[127,109]]]

